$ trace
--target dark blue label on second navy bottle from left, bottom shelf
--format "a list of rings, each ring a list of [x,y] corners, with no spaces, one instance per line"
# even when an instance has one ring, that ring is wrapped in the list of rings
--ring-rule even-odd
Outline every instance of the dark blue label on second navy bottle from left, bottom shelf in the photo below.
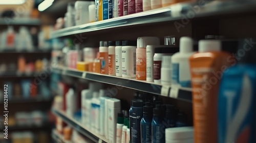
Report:
[[[146,124],[146,123],[141,123],[141,140],[142,143],[146,142],[146,143],[150,143],[151,142],[151,123],[150,124]]]

